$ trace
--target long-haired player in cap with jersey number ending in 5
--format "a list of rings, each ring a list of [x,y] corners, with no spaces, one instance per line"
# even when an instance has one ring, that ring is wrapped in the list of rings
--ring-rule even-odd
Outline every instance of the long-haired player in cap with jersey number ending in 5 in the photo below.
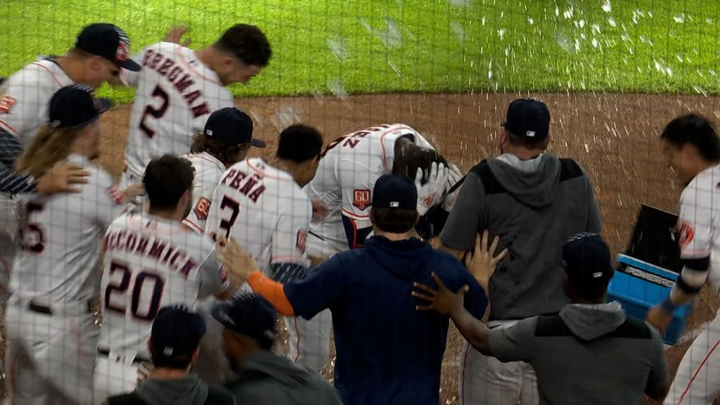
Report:
[[[20,251],[13,265],[5,326],[9,397],[19,404],[90,404],[98,330],[90,300],[99,289],[99,242],[132,197],[89,163],[98,155],[97,119],[107,100],[74,84],[50,99],[52,125],[40,129],[18,168],[42,175],[61,160],[84,167],[78,193],[24,195]]]

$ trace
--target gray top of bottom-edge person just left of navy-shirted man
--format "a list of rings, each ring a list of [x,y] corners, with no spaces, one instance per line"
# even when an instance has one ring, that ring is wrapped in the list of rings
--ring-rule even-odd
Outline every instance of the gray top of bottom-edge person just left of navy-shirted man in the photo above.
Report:
[[[262,350],[250,357],[238,378],[225,385],[239,405],[341,405],[338,391],[322,375]]]

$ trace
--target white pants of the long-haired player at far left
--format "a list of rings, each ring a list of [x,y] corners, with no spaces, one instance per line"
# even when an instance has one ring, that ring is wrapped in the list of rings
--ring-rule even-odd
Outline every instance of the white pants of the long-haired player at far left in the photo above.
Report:
[[[11,404],[88,405],[99,328],[87,301],[9,298],[6,388]]]

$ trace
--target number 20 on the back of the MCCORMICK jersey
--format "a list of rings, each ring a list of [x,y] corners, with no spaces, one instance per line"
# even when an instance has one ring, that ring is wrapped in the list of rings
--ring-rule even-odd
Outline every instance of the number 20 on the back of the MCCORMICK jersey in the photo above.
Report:
[[[127,312],[127,306],[119,304],[117,301],[113,303],[112,296],[114,294],[125,295],[132,283],[130,313],[132,313],[132,316],[135,316],[135,318],[142,319],[143,321],[153,321],[160,310],[160,300],[163,298],[163,290],[165,289],[165,280],[163,280],[163,277],[154,272],[139,272],[138,275],[135,276],[135,280],[132,280],[132,272],[129,267],[125,264],[112,262],[110,263],[109,276],[112,278],[116,273],[121,274],[120,282],[113,280],[107,285],[107,288],[105,288],[105,308],[124,315]],[[140,298],[143,294],[145,282],[152,282],[153,290],[150,294],[150,304],[141,311]],[[124,300],[121,298],[119,301]]]

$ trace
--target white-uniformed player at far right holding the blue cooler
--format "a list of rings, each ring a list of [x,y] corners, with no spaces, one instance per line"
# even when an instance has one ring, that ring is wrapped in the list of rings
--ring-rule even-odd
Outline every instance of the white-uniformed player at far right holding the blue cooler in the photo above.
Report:
[[[689,114],[670,121],[660,139],[667,163],[685,185],[678,219],[683,270],[670,296],[647,313],[647,321],[665,331],[675,308],[703,285],[720,293],[720,138],[705,117]],[[720,314],[685,352],[664,404],[711,404],[720,395],[719,342]]]

